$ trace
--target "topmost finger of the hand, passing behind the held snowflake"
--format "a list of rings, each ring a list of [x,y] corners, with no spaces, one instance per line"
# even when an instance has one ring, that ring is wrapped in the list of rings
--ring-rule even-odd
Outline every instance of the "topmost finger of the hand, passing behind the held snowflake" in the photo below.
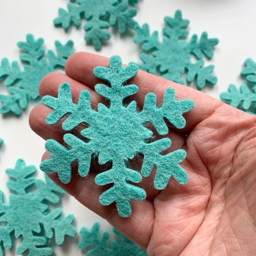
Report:
[[[67,60],[65,72],[74,80],[94,89],[94,86],[99,83],[99,79],[93,73],[94,68],[97,66],[109,67],[109,58],[88,52],[78,52],[73,54]],[[161,103],[164,92],[168,87],[175,89],[177,100],[187,98],[192,99],[195,103],[195,108],[183,115],[187,121],[187,125],[185,128],[180,130],[182,133],[190,132],[198,123],[211,116],[219,106],[226,105],[193,88],[179,85],[141,70],[139,70],[137,75],[130,80],[130,83],[139,87],[139,91],[133,96],[133,98],[137,101],[140,107],[143,106],[144,98],[149,92],[153,92],[157,96],[158,103]],[[226,107],[229,108],[228,105]]]

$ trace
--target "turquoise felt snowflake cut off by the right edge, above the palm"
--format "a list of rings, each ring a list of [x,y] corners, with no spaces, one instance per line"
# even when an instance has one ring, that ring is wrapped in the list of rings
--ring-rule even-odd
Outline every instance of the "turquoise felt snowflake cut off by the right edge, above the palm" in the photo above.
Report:
[[[256,62],[252,59],[246,59],[244,65],[245,67],[241,75],[245,76],[249,83],[256,84]],[[256,85],[242,84],[239,90],[235,85],[231,84],[229,85],[229,91],[222,92],[220,98],[229,101],[232,107],[256,115]],[[250,111],[249,109],[252,107],[252,103],[254,103],[254,109]]]

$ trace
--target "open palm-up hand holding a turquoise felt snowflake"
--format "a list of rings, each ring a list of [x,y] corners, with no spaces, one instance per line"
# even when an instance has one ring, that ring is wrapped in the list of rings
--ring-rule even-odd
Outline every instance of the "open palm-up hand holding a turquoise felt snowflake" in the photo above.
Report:
[[[96,108],[103,98],[94,91],[98,79],[93,69],[108,64],[109,59],[98,55],[73,54],[65,66],[67,75],[50,73],[43,78],[40,96],[56,97],[59,85],[68,82],[74,101],[77,102],[80,91],[87,89],[91,92],[92,107]],[[90,171],[85,178],[73,175],[66,185],[57,175],[49,176],[83,205],[146,248],[149,256],[255,255],[256,117],[200,91],[143,71],[131,83],[139,87],[134,98],[140,107],[148,92],[155,93],[161,102],[170,86],[175,89],[177,100],[194,100],[195,108],[184,114],[186,127],[170,128],[168,134],[171,150],[183,148],[187,152],[181,166],[188,173],[189,182],[180,185],[171,179],[166,189],[158,191],[152,187],[154,175],[143,178],[139,185],[144,187],[147,199],[133,201],[132,215],[122,218],[113,210],[115,206],[99,204],[99,195],[106,188],[94,183],[96,173]],[[45,122],[51,111],[38,105],[32,110],[29,122],[44,139],[53,138],[61,143],[64,133],[61,122],[52,126]],[[49,158],[48,153],[45,158]]]

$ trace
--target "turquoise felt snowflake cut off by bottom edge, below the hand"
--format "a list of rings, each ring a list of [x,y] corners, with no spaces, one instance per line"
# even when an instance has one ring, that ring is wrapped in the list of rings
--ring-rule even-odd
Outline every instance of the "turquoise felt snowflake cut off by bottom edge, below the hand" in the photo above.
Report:
[[[146,251],[134,244],[127,237],[113,228],[116,234],[111,246],[109,245],[109,232],[104,232],[100,237],[100,224],[94,223],[91,230],[83,227],[80,231],[82,241],[79,249],[87,249],[87,256],[147,256]]]

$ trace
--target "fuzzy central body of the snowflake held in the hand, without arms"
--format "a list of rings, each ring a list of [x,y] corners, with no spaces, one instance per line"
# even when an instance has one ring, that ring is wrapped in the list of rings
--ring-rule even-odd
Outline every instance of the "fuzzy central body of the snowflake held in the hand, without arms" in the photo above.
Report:
[[[98,117],[90,126],[93,136],[89,139],[97,143],[99,154],[115,158],[134,158],[141,146],[152,136],[152,132],[142,124],[138,112],[125,107],[106,109],[98,112]]]

